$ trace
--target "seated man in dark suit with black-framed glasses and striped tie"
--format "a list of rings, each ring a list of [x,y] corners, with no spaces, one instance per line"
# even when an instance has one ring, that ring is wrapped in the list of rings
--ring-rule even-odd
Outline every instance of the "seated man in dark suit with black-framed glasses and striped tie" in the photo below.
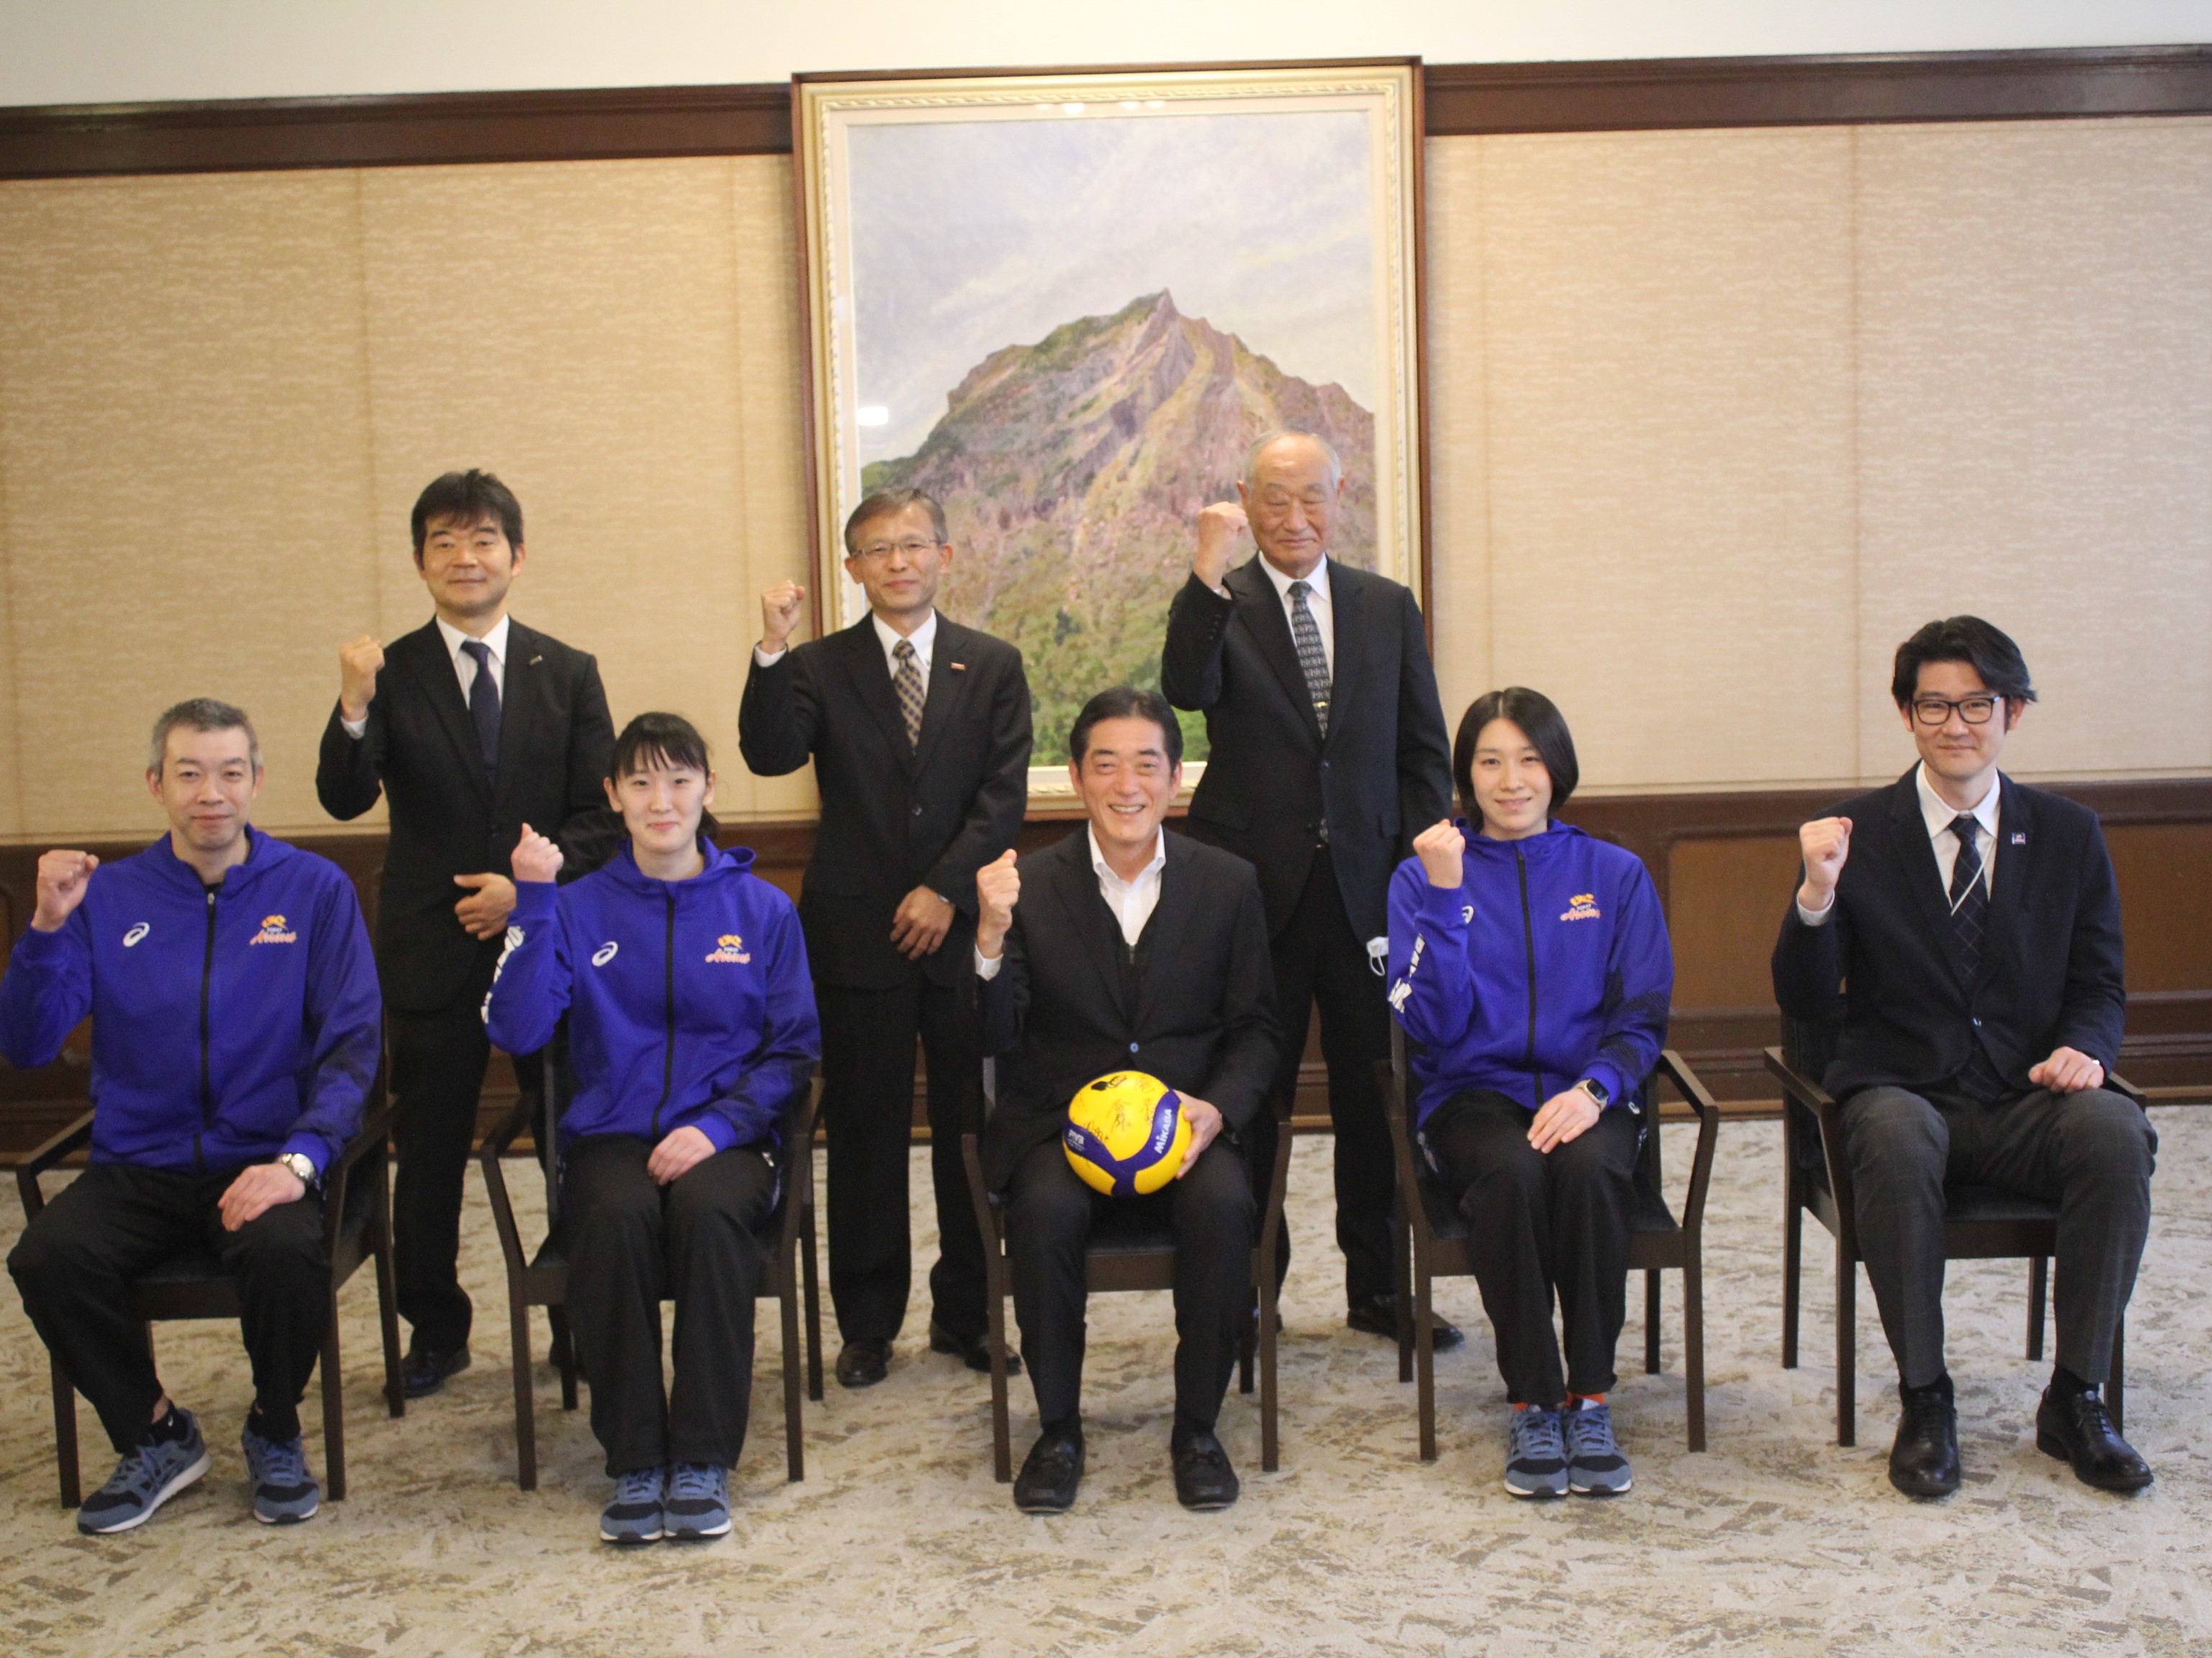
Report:
[[[1843,1012],[1825,1088],[1843,1101],[1858,1247],[1898,1357],[1889,1481],[1958,1488],[1942,1218],[1944,1180],[1964,1180],[2059,1205],[2059,1351],[2035,1444],[2090,1486],[2141,1490],[2150,1468],[2099,1397],[2159,1145],[2104,1088],[2128,999],[2112,860],[2093,811],[1997,772],[2035,701],[1997,628],[1931,621],[1898,646],[1889,690],[1920,765],[1798,831],[1805,882],[1774,946],[1783,1012]]]

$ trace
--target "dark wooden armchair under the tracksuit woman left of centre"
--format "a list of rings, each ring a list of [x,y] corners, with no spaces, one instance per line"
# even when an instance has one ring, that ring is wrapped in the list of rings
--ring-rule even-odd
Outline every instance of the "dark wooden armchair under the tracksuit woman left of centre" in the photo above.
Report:
[[[566,1035],[566,1028],[564,1028]],[[575,1410],[575,1340],[568,1333],[568,1256],[560,1245],[560,1180],[555,1163],[542,1156],[546,1169],[546,1236],[538,1253],[522,1249],[522,1229],[515,1225],[515,1205],[507,1194],[507,1174],[500,1158],[515,1143],[524,1127],[542,1112],[538,1145],[551,1147],[560,1127],[560,1110],[566,1088],[564,1035],[555,1037],[555,1050],[546,1052],[544,1099],[526,1092],[515,1099],[491,1134],[484,1136],[476,1161],[484,1169],[484,1187],[491,1196],[491,1220],[500,1231],[500,1256],[507,1260],[507,1326],[513,1342],[515,1368],[515,1483],[522,1490],[538,1490],[538,1391],[531,1379],[531,1309],[544,1307],[553,1324],[553,1364],[560,1366],[560,1406]],[[783,1311],[783,1457],[790,1479],[805,1479],[805,1444],[799,1410],[799,1307],[805,1298],[807,1360],[805,1397],[821,1404],[823,1397],[823,1313],[821,1287],[814,1265],[814,1119],[821,1110],[821,1077],[792,1101],[783,1119],[783,1192],[776,1207],[763,1222],[763,1236],[774,1236],[776,1247],[761,1262],[761,1300],[774,1298]],[[752,1377],[737,1377],[734,1386],[752,1386]]]

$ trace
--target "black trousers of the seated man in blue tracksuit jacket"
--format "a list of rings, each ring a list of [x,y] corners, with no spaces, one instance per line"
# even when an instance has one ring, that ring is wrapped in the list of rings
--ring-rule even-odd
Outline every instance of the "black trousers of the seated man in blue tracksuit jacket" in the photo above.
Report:
[[[223,1231],[217,1205],[237,1176],[93,1163],[9,1251],[31,1324],[100,1413],[115,1455],[139,1441],[161,1397],[146,1326],[131,1318],[131,1280],[197,1247],[212,1249],[239,1287],[254,1426],[270,1439],[299,1437],[299,1402],[330,1320],[323,1198],[310,1192]]]

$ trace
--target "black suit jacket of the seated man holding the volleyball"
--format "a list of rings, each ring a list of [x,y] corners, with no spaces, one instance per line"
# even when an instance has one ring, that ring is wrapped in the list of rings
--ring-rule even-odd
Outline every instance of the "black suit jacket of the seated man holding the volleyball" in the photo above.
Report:
[[[1267,1099],[1276,1019],[1259,880],[1241,858],[1177,833],[1166,840],[1135,995],[1091,838],[1077,829],[1020,862],[1004,959],[995,977],[975,979],[984,1052],[1000,1059],[982,1143],[993,1187],[1057,1138],[1075,1090],[1110,1070],[1141,1070],[1217,1105],[1232,1136]]]

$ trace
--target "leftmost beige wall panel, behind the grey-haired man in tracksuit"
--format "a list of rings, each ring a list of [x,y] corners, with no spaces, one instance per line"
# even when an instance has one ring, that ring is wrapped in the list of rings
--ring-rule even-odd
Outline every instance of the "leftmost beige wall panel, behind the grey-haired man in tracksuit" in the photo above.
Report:
[[[374,592],[358,318],[347,175],[0,190],[24,833],[150,836],[146,730],[197,694],[254,714],[261,820],[323,820],[325,659]]]

